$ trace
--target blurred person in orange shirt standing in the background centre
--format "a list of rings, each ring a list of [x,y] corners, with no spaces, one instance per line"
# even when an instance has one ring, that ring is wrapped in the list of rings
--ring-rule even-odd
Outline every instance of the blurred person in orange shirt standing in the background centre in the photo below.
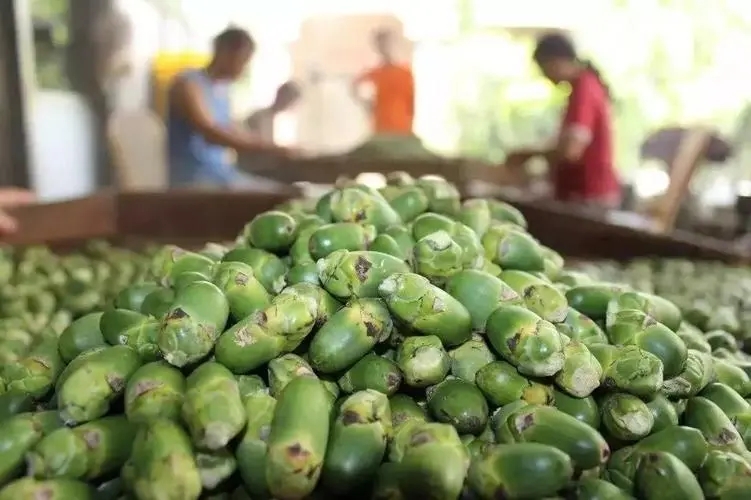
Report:
[[[378,30],[373,41],[381,63],[353,82],[355,99],[370,112],[374,134],[412,134],[415,117],[415,82],[412,69],[395,59],[396,35]],[[373,86],[372,99],[362,97],[364,84]]]

